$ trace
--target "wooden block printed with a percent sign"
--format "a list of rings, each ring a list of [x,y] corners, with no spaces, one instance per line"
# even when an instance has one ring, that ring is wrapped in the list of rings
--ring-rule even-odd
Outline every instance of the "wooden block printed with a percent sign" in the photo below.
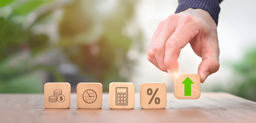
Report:
[[[164,109],[166,104],[164,83],[142,83],[140,85],[140,106],[143,109]]]

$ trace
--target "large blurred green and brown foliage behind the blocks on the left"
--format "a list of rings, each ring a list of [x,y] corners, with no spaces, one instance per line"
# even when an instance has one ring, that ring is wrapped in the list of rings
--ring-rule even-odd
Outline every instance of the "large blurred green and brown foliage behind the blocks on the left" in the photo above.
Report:
[[[102,0],[1,1],[0,93],[43,93],[46,82],[69,82],[72,92],[79,82],[100,82],[108,91],[109,83],[126,82],[136,63],[126,54],[134,42],[143,50],[142,33],[140,28],[132,37],[126,32],[136,1],[114,4],[118,5],[111,8]],[[57,33],[52,35],[54,29]]]

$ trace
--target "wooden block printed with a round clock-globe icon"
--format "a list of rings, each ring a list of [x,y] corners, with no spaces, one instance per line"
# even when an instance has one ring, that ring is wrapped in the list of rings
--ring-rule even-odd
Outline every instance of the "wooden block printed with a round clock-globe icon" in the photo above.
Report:
[[[79,83],[76,86],[76,102],[79,109],[100,109],[102,107],[102,84]]]

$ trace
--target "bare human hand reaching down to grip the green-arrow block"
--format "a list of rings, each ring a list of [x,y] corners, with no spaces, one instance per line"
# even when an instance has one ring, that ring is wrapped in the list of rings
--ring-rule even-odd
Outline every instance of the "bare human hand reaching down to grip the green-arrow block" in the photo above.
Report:
[[[201,83],[204,83],[220,68],[220,48],[217,25],[211,15],[202,9],[189,8],[161,21],[148,48],[148,61],[173,78],[178,73],[180,50],[188,43],[202,58],[198,74]]]

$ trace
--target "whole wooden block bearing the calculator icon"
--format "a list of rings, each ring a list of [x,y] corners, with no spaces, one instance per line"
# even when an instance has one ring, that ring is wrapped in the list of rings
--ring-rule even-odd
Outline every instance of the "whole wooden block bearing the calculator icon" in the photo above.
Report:
[[[132,109],[135,105],[135,89],[131,82],[109,84],[109,107],[111,109]]]

